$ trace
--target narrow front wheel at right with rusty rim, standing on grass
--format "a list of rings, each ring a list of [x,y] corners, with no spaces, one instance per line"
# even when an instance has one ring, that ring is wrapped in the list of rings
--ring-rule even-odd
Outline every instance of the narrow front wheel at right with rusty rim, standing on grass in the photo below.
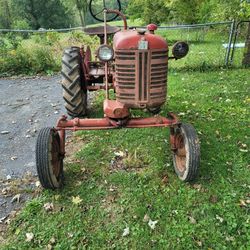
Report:
[[[182,181],[193,181],[200,164],[200,143],[192,125],[181,124],[174,128],[174,169]]]

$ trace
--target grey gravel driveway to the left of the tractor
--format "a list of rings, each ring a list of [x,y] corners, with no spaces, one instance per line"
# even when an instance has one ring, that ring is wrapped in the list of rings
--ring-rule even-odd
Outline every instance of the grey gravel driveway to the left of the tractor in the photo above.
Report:
[[[0,179],[36,173],[37,133],[66,113],[60,79],[0,79]]]

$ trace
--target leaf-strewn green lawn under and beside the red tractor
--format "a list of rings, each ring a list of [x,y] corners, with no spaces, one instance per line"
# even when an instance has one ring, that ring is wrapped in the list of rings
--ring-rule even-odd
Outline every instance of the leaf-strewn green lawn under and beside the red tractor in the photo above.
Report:
[[[168,129],[78,132],[65,188],[27,203],[1,249],[249,249],[249,73],[171,71],[162,114],[175,111],[199,133],[195,183],[175,175]],[[91,116],[101,116],[102,99]],[[145,215],[158,221],[154,230]]]

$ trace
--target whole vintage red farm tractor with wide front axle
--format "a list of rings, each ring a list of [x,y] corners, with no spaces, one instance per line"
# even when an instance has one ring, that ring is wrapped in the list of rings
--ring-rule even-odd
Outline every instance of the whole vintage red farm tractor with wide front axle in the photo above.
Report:
[[[100,1],[99,1],[100,2]],[[107,1],[108,2],[108,1]],[[91,0],[91,15],[104,22],[104,26],[85,28],[85,33],[97,35],[100,46],[96,60],[91,59],[87,47],[70,47],[62,58],[62,87],[65,108],[72,119],[63,115],[54,128],[43,128],[37,138],[36,165],[41,185],[56,189],[63,185],[63,159],[65,155],[65,132],[67,130],[97,130],[121,128],[169,127],[170,145],[174,169],[183,181],[197,176],[200,161],[200,145],[195,129],[183,124],[173,113],[166,117],[156,115],[166,101],[169,59],[181,59],[188,53],[185,42],[177,42],[168,55],[168,44],[154,34],[157,26],[149,24],[146,29],[128,29],[121,4],[110,9],[103,1],[98,10]],[[100,6],[99,6],[100,7]],[[107,25],[118,16],[124,22],[120,30]],[[102,18],[103,17],[103,18]],[[113,36],[112,46],[108,44]],[[116,100],[109,98],[110,90]],[[87,112],[88,91],[104,90],[104,118],[83,118]],[[130,109],[148,110],[147,118],[133,118]],[[93,152],[94,153],[94,152]]]

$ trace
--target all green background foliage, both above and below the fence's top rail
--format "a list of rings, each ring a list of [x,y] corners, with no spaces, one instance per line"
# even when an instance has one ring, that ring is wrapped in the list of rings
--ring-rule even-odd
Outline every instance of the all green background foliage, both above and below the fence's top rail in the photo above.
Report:
[[[109,8],[116,6],[115,0],[109,0],[107,3]],[[239,21],[247,20],[250,16],[250,4],[247,4],[246,0],[122,0],[121,3],[130,26],[152,22],[164,25],[232,19]],[[96,21],[89,14],[88,4],[88,0],[0,0],[0,29],[38,30],[95,24]],[[94,4],[100,7],[103,2],[95,0]],[[111,25],[121,24],[118,20]],[[183,60],[182,66],[192,69],[201,67],[203,70],[210,66],[223,65],[225,49],[222,44],[228,41],[228,28],[224,26],[223,30],[218,30],[211,26],[211,32],[197,29],[158,33],[167,39],[170,45],[178,39],[188,41],[192,49],[189,53],[192,63]],[[50,74],[59,71],[61,52],[66,46],[91,45],[92,41],[96,43],[95,39],[92,40],[82,33],[79,35],[80,33],[0,33],[0,76]],[[72,36],[79,36],[78,41],[72,40]],[[241,40],[246,41],[246,36]],[[208,49],[209,54],[205,53]]]

